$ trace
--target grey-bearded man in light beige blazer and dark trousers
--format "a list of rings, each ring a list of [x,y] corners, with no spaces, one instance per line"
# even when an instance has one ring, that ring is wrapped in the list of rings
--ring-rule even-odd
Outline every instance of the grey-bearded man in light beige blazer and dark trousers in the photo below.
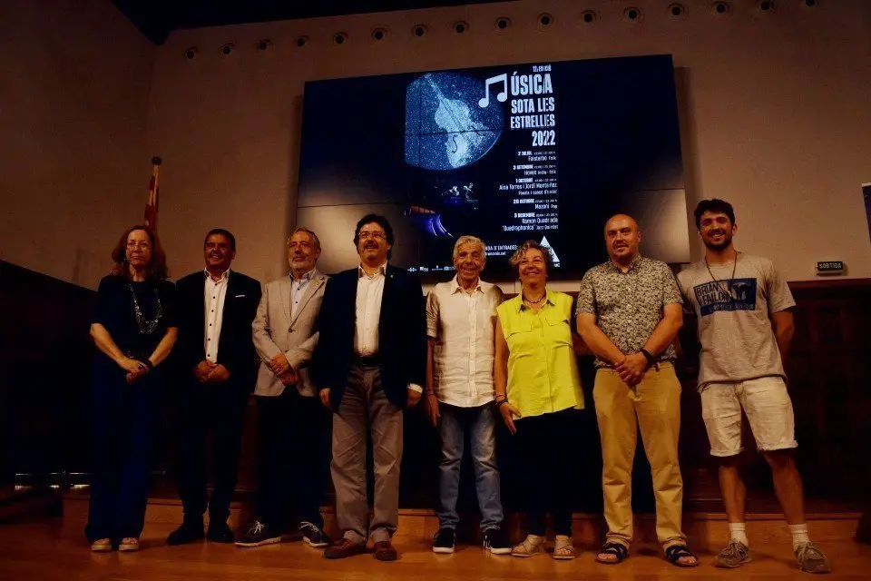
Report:
[[[320,506],[327,493],[329,414],[308,377],[318,345],[318,314],[328,277],[318,272],[320,241],[297,228],[288,239],[289,277],[266,286],[251,328],[260,358],[257,399],[260,428],[259,518],[239,547],[278,543],[293,507],[299,531],[312,547],[329,543]]]

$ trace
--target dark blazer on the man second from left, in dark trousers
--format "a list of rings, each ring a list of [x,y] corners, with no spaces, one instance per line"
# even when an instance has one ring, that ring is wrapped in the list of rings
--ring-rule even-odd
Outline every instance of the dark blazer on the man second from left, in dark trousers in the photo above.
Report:
[[[182,374],[190,378],[193,369],[206,359],[203,347],[206,327],[206,274],[193,272],[175,283],[179,304],[179,338],[176,343]],[[230,271],[224,313],[220,323],[218,363],[230,371],[230,382],[253,389],[259,359],[251,339],[251,323],[260,302],[260,283],[241,272]]]

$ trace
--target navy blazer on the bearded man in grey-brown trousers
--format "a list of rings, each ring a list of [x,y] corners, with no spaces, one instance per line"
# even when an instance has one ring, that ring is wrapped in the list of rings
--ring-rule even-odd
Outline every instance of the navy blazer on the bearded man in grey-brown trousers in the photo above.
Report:
[[[354,359],[358,278],[355,268],[327,281],[318,320],[320,338],[312,361],[313,377],[318,389],[330,390],[330,405],[336,411]],[[414,275],[389,264],[378,321],[378,354],[381,387],[392,404],[405,408],[408,384],[426,387],[424,291]]]

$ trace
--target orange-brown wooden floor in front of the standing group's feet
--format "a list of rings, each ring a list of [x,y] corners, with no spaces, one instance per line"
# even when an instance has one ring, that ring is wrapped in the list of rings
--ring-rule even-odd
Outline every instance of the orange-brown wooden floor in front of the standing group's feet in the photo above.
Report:
[[[550,556],[517,559],[492,556],[479,547],[457,547],[454,555],[434,555],[421,537],[397,537],[401,558],[379,563],[371,555],[327,561],[321,552],[301,542],[241,549],[232,545],[200,543],[167,547],[165,538],[174,526],[148,523],[138,553],[93,554],[83,536],[80,519],[45,519],[0,526],[0,579],[259,581],[261,579],[360,581],[455,581],[488,579],[807,579],[795,567],[786,543],[766,544],[760,539],[751,549],[754,562],[729,571],[711,566],[712,555],[700,552],[702,564],[679,569],[662,560],[658,547],[633,547],[620,566],[593,561],[595,547],[582,546],[574,561],[553,561]],[[811,530],[813,533],[813,530]],[[752,533],[751,533],[752,534]],[[750,538],[751,542],[753,537]],[[871,546],[845,538],[819,543],[832,559],[835,571],[827,578],[871,577]]]

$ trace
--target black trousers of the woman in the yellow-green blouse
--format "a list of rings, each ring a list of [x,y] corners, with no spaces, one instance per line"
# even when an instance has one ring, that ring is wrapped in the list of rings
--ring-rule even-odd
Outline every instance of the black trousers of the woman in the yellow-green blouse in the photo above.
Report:
[[[524,467],[526,528],[532,535],[544,535],[549,512],[553,534],[572,536],[577,419],[576,409],[563,409],[514,420],[518,460]]]

